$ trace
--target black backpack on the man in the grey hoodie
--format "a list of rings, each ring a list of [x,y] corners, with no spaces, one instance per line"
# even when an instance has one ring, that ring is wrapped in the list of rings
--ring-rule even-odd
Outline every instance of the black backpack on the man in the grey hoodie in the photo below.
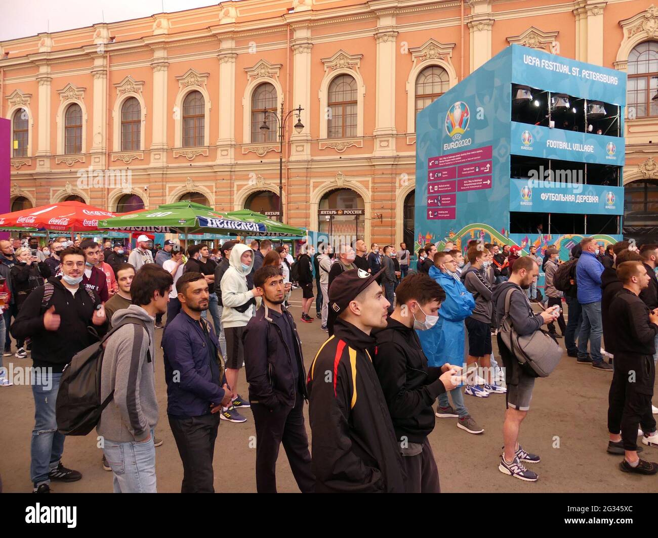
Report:
[[[55,403],[57,429],[60,433],[87,435],[101,420],[103,409],[114,397],[112,391],[101,402],[101,368],[106,341],[118,328],[128,324],[146,328],[142,320],[128,318],[114,326],[100,341],[78,351],[71,362],[64,366]],[[147,360],[151,362],[150,343]]]

